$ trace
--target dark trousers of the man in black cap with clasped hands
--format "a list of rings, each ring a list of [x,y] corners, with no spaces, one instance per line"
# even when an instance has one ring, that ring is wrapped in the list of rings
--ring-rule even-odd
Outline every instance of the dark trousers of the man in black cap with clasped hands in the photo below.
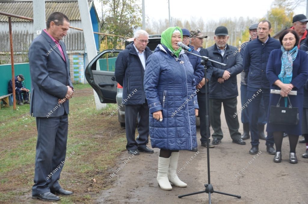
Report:
[[[233,117],[234,113],[237,112],[237,97],[229,99],[211,99],[210,98],[210,120],[214,130],[212,137],[213,139],[223,138],[221,130],[221,104],[224,106],[225,118],[229,128],[230,136],[233,140],[240,139],[241,133],[238,131],[240,124],[238,123],[238,117]]]

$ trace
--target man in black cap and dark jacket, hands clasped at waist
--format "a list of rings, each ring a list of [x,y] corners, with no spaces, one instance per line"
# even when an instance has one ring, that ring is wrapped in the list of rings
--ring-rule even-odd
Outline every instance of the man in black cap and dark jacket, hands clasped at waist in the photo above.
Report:
[[[215,44],[206,49],[210,59],[226,64],[222,66],[211,63],[213,74],[209,84],[209,116],[214,131],[212,144],[219,144],[223,138],[220,120],[221,104],[223,104],[232,142],[245,145],[238,131],[240,128],[238,117],[234,116],[237,112],[238,96],[236,75],[243,70],[242,57],[239,54],[233,55],[237,48],[228,45],[228,39],[228,29],[225,26],[218,26],[215,30]]]

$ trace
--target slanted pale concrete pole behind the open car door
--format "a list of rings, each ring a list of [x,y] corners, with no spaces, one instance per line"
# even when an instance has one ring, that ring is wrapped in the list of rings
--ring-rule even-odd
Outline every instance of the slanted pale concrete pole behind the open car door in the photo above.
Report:
[[[96,45],[95,45],[95,39],[94,39],[94,34],[93,34],[88,1],[78,0],[78,6],[79,6],[79,11],[80,11],[84,41],[85,41],[86,48],[87,48],[87,58],[88,58],[88,62],[90,62],[97,55],[97,51],[96,51]],[[99,70],[99,66],[97,66],[96,69]],[[96,109],[99,110],[101,108],[105,108],[106,104],[102,104],[99,101],[99,97],[97,93],[94,91],[94,89],[93,89],[93,92],[94,92]]]

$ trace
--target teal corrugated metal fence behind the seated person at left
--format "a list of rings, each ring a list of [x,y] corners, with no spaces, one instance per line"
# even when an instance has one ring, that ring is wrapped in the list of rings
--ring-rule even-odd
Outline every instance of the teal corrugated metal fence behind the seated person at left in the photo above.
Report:
[[[22,74],[25,77],[23,81],[26,88],[31,92],[31,77],[29,63],[14,64],[15,76]],[[12,78],[11,65],[0,65],[0,96],[8,94],[7,87]]]

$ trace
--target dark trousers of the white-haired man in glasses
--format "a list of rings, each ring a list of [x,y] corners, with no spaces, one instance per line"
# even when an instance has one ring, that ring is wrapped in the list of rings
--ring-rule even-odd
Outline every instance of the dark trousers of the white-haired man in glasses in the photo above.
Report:
[[[137,130],[139,135],[137,139],[135,139],[137,117]],[[142,105],[125,105],[125,130],[127,150],[147,146],[149,142],[149,108],[147,103]]]

